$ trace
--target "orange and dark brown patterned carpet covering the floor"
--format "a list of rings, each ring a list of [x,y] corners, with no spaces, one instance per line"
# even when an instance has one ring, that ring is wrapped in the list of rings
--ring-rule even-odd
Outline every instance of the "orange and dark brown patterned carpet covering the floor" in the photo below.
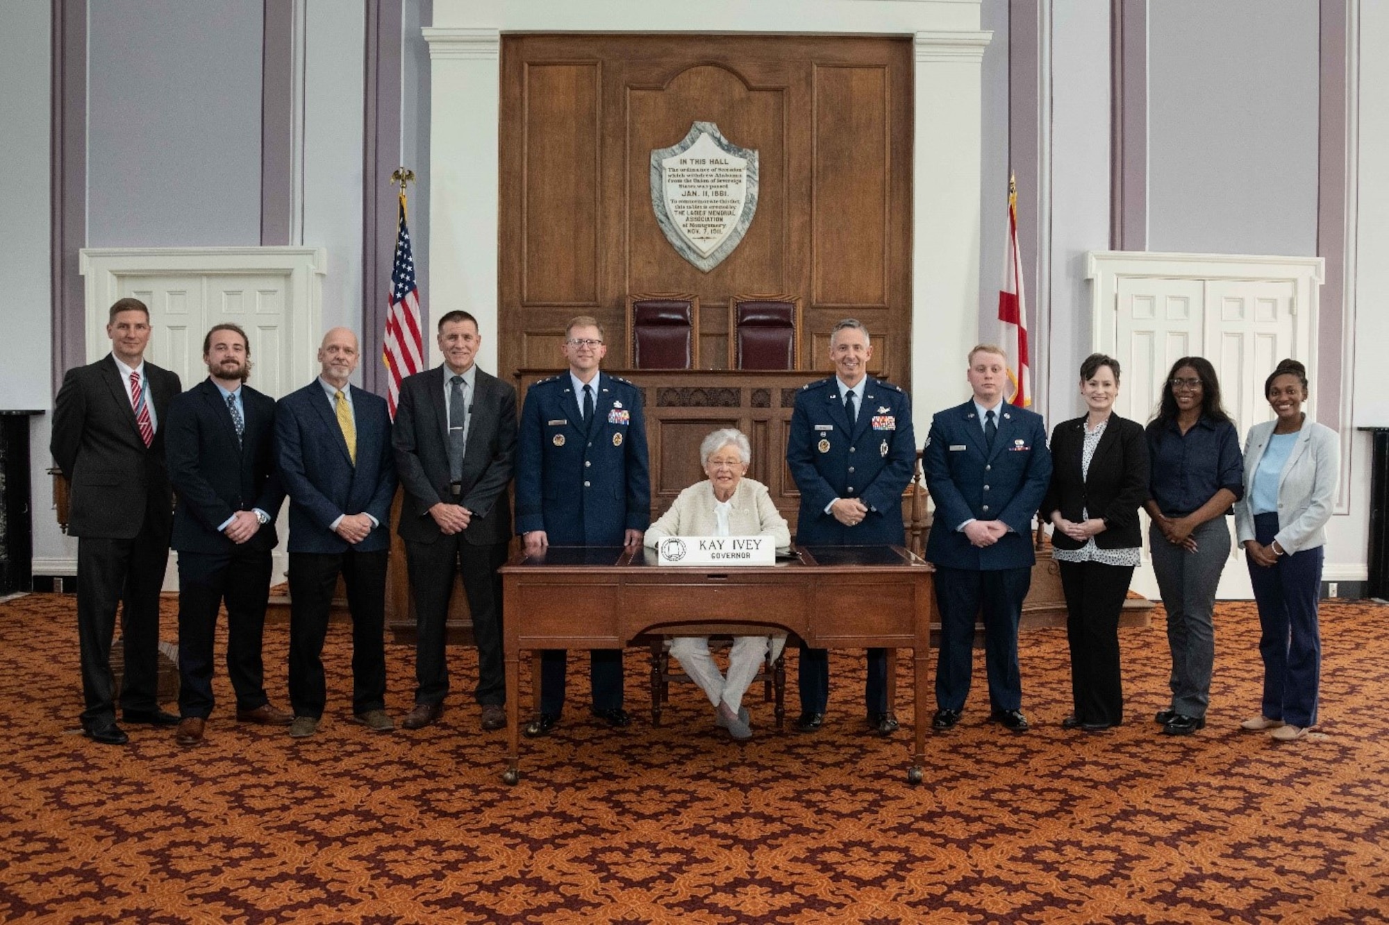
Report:
[[[689,685],[660,729],[644,711],[600,728],[572,657],[581,697],[551,739],[526,743],[508,788],[504,733],[479,732],[458,693],[471,651],[453,653],[442,725],[372,733],[349,722],[343,625],[329,631],[314,739],[229,721],[219,674],[208,744],[181,750],[169,731],[135,726],[129,746],[97,746],[75,732],[74,614],[63,596],[0,604],[6,922],[1389,921],[1389,607],[1372,603],[1322,610],[1313,738],[1238,729],[1257,712],[1257,624],[1225,604],[1204,732],[1156,735],[1161,614],[1124,631],[1131,719],[1099,735],[1057,726],[1064,633],[1035,631],[1022,676],[1036,728],[985,724],[979,661],[964,722],[928,742],[920,788],[904,779],[906,660],[896,739],[861,731],[861,658],[836,654],[818,736],[776,733],[757,701],[758,735],[738,746]],[[279,706],[285,658],[286,628],[272,626]],[[413,653],[392,646],[388,661],[399,715]],[[626,676],[628,706],[644,706],[642,653]]]

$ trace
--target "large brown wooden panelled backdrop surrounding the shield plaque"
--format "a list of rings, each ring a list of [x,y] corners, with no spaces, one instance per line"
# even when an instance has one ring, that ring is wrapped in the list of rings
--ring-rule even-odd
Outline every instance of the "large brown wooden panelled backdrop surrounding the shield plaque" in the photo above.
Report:
[[[804,300],[799,367],[860,317],[879,340],[911,325],[911,43],[903,38],[510,35],[501,46],[499,371],[563,365],[575,314],[626,357],[626,296],[740,292]],[[650,153],[694,121],[758,151],[757,214],[700,272],[667,242]],[[728,318],[701,312],[700,367],[726,365]],[[817,336],[820,340],[817,340]],[[910,351],[883,353],[895,381]]]

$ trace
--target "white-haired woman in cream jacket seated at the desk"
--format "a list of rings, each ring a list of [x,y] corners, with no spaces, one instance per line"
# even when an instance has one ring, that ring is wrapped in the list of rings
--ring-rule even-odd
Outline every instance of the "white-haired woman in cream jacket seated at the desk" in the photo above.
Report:
[[[735,428],[714,431],[699,449],[700,464],[708,479],[692,485],[675,499],[671,510],[646,531],[646,544],[654,547],[667,536],[763,536],[770,535],[776,549],[790,547],[790,528],[772,504],[767,486],[743,478],[751,461],[747,436]],[[726,614],[717,614],[725,618]],[[718,671],[708,653],[708,638],[676,636],[671,654],[690,678],[704,689],[714,704],[714,725],[733,739],[753,735],[747,724],[743,693],[761,669],[768,651],[775,660],[786,644],[786,633],[738,636],[728,656],[728,676]]]

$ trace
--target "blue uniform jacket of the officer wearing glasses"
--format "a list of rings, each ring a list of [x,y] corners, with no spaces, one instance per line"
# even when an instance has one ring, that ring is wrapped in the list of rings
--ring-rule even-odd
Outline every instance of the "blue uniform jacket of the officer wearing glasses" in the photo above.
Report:
[[[583,421],[569,374],[525,393],[517,440],[517,532],[551,546],[621,546],[651,525],[642,390],[600,372]]]

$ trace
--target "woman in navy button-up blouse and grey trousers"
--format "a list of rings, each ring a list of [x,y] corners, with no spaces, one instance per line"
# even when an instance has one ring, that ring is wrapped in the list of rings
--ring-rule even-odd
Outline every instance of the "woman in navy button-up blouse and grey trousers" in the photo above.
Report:
[[[1172,364],[1146,436],[1149,549],[1172,650],[1172,706],[1156,719],[1164,733],[1186,736],[1206,725],[1215,586],[1231,550],[1225,515],[1245,494],[1239,435],[1221,407],[1210,360],[1182,357]]]

